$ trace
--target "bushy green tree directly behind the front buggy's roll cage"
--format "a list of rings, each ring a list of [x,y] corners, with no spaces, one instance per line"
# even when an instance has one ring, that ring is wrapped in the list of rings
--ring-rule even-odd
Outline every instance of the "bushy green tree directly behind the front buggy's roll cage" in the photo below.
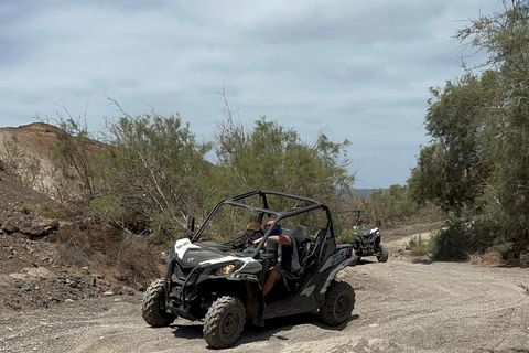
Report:
[[[353,185],[342,143],[321,132],[313,145],[301,141],[294,129],[261,117],[245,127],[229,106],[226,121],[217,121],[215,138],[219,173],[226,193],[271,189],[328,201]]]

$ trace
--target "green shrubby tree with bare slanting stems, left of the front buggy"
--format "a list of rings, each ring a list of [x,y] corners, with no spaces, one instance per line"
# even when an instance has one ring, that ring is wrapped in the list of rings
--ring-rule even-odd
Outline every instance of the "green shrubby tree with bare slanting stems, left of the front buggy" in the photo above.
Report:
[[[128,214],[153,222],[164,234],[185,225],[202,211],[212,165],[205,159],[210,143],[198,143],[180,115],[155,111],[107,121],[105,163],[107,195],[118,197]]]

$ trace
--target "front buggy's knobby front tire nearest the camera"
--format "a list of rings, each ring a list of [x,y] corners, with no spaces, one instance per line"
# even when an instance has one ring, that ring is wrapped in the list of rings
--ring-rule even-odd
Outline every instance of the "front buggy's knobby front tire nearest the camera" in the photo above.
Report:
[[[237,342],[246,323],[245,306],[235,297],[220,297],[204,319],[204,339],[214,349],[226,349]]]

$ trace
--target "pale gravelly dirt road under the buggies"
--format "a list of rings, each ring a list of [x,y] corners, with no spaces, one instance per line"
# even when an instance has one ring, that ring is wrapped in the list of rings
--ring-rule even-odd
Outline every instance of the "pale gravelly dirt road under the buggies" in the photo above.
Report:
[[[226,352],[529,352],[528,269],[390,257],[341,278],[357,298],[346,324],[324,327],[317,314],[270,320],[246,327]],[[151,329],[140,302],[139,293],[2,312],[0,352],[212,352],[199,322]]]

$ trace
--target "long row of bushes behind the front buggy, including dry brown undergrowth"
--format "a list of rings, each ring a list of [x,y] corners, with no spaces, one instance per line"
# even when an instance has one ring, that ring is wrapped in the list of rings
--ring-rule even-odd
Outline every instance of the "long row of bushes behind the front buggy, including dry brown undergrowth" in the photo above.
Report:
[[[201,224],[219,200],[256,189],[310,196],[336,214],[368,210],[385,226],[444,217],[439,207],[419,207],[408,186],[358,196],[348,140],[334,142],[320,131],[305,141],[266,117],[246,126],[223,97],[223,119],[215,121],[212,142],[197,141],[177,114],[131,115],[117,101],[121,116],[97,136],[65,108],[47,120],[57,127],[57,139],[46,190],[60,205],[44,205],[42,214],[77,220],[50,239],[65,261],[83,267],[97,259],[116,267],[120,278],[141,279],[150,274],[145,259],[155,263],[156,253],[186,235],[188,215]],[[336,220],[338,243],[350,240],[355,223]]]

